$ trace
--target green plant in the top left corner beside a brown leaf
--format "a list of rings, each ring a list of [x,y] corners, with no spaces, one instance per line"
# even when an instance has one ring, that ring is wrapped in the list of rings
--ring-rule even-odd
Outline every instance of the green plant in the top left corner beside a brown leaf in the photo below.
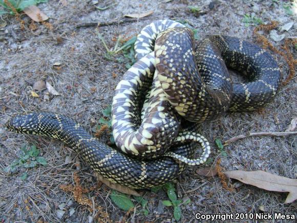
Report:
[[[33,5],[37,5],[39,3],[47,3],[48,0],[0,0],[0,6],[2,6],[5,10],[0,10],[0,15],[3,14],[15,14],[16,12],[21,12],[25,8]]]

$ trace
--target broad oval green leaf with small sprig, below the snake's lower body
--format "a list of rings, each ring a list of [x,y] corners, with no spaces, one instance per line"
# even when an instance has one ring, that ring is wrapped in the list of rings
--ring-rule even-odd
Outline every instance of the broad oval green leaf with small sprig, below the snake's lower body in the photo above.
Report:
[[[129,211],[130,209],[135,207],[132,199],[130,199],[126,194],[113,190],[110,197],[114,204],[121,210]],[[138,213],[142,213],[144,216],[149,215],[149,209],[147,208],[148,201],[142,196],[133,196],[133,198],[141,205],[141,210],[138,211]]]

